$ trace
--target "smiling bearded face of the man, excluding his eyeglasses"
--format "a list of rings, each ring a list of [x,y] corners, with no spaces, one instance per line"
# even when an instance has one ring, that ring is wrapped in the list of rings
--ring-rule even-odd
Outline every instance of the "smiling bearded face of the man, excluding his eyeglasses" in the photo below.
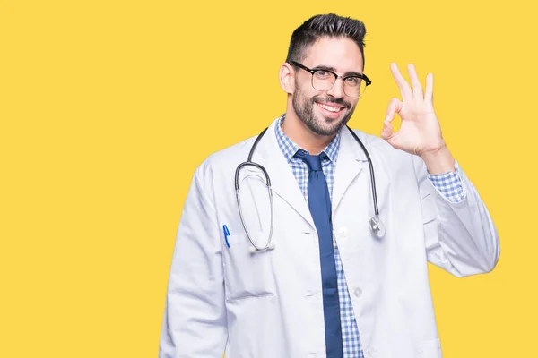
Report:
[[[310,69],[326,68],[343,75],[362,73],[360,48],[350,38],[320,38],[308,49],[301,64]],[[334,82],[331,90],[319,91],[312,87],[312,75],[294,68],[295,90],[292,105],[299,120],[318,135],[332,136],[348,123],[359,98],[343,93],[343,79]]]

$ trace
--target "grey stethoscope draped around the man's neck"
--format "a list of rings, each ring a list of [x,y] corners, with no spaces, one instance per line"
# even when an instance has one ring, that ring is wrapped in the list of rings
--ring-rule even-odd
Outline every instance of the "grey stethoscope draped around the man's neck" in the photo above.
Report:
[[[347,129],[351,132],[351,135],[360,144],[360,147],[364,151],[364,154],[366,155],[366,158],[368,159],[368,165],[369,165],[369,172],[370,172],[370,183],[372,185],[372,197],[374,200],[374,217],[371,217],[369,219],[369,229],[371,233],[376,236],[378,239],[381,239],[385,236],[385,226],[383,225],[383,222],[381,222],[381,219],[379,218],[379,209],[377,208],[377,191],[376,191],[376,178],[374,177],[374,166],[372,166],[372,160],[369,157],[368,150],[366,150],[366,147],[364,147],[364,144],[362,144],[362,141],[360,141],[359,137],[357,137],[357,134],[351,130],[349,126],[347,126]],[[256,138],[256,141],[254,141],[254,144],[252,145],[252,148],[250,149],[250,152],[248,153],[248,158],[246,162],[243,162],[239,164],[239,166],[236,168],[235,173],[235,189],[236,189],[236,199],[238,202],[239,207],[239,217],[241,218],[241,224],[243,225],[243,229],[245,230],[245,233],[247,234],[248,241],[252,244],[250,247],[250,252],[262,252],[267,250],[273,250],[275,248],[275,244],[272,241],[273,238],[273,191],[271,189],[271,179],[269,178],[269,174],[267,174],[267,171],[265,170],[264,166],[261,166],[260,164],[257,164],[252,161],[252,155],[254,154],[254,150],[256,149],[257,143],[262,139],[265,132],[267,131],[267,128],[263,130]],[[255,166],[256,168],[260,169],[264,175],[265,175],[265,181],[267,186],[267,191],[269,193],[269,201],[271,203],[271,226],[269,229],[269,237],[267,238],[267,241],[265,242],[265,246],[258,246],[256,245],[255,241],[252,239],[252,236],[248,232],[247,225],[245,225],[245,220],[243,218],[243,212],[241,211],[241,200],[239,197],[239,171],[243,166]]]

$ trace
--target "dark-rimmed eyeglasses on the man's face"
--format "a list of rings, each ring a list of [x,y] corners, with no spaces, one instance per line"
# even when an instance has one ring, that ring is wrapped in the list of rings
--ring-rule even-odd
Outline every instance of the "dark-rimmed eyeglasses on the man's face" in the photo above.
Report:
[[[325,69],[309,69],[307,66],[295,61],[291,61],[290,64],[310,72],[312,74],[312,87],[316,90],[331,90],[334,86],[334,82],[339,78],[342,78],[343,93],[351,98],[360,98],[360,96],[364,94],[366,87],[372,83],[372,81],[369,81],[366,74],[359,73],[350,76],[339,76],[338,74]]]

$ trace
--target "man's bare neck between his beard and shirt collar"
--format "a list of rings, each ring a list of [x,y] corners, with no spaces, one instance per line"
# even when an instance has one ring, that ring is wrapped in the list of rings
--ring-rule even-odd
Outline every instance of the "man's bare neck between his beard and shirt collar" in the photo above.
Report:
[[[282,124],[282,132],[284,132],[291,141],[297,143],[300,148],[308,151],[310,155],[319,154],[325,147],[333,141],[335,135],[325,136],[312,132],[302,123],[293,108],[288,108],[286,118]]]

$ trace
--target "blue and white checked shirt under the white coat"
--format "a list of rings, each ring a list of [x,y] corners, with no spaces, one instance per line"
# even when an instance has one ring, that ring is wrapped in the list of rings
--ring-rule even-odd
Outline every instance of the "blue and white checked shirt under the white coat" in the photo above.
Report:
[[[282,150],[282,154],[291,166],[291,171],[295,178],[299,182],[299,187],[303,193],[305,200],[308,201],[308,166],[307,164],[294,157],[300,149],[297,144],[291,141],[290,138],[282,131],[282,123],[284,121],[282,115],[277,119],[278,124],[274,126],[276,132],[276,140],[279,147]],[[329,187],[329,193],[331,200],[333,198],[333,185],[334,185],[334,164],[338,157],[338,149],[340,149],[341,133],[334,137],[327,147],[323,150],[328,158],[322,160],[322,168],[325,174],[327,185]],[[456,163],[457,169],[457,163]],[[453,172],[448,172],[442,175],[428,175],[430,182],[441,192],[448,200],[452,202],[459,202],[464,200],[464,190],[459,178],[459,175]],[[360,345],[359,328],[357,328],[357,322],[353,314],[353,307],[351,305],[351,297],[343,274],[342,261],[340,260],[340,253],[338,252],[338,246],[333,239],[334,246],[334,261],[336,263],[336,275],[338,281],[338,295],[340,298],[340,320],[342,324],[342,339],[343,339],[343,358],[362,358],[362,347]]]

